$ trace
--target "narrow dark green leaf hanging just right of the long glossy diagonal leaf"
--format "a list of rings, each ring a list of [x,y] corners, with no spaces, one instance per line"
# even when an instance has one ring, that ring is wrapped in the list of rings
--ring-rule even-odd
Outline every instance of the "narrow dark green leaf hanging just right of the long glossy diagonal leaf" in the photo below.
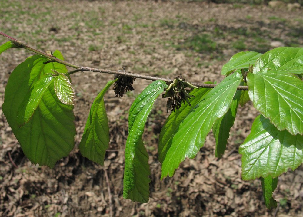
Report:
[[[226,150],[227,140],[229,138],[229,131],[235,122],[241,92],[244,91],[236,91],[236,94],[232,99],[230,108],[228,109],[227,113],[217,119],[214,125],[212,126],[212,131],[216,139],[215,157],[222,157]]]

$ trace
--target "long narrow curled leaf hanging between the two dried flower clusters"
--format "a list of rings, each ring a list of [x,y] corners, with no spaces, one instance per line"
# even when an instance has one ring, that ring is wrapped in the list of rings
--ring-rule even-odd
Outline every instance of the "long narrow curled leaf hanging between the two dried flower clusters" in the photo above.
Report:
[[[155,102],[164,88],[164,81],[154,81],[135,99],[128,115],[128,138],[125,145],[125,170],[123,197],[141,203],[148,202],[151,179],[148,153],[142,141],[145,122]]]

